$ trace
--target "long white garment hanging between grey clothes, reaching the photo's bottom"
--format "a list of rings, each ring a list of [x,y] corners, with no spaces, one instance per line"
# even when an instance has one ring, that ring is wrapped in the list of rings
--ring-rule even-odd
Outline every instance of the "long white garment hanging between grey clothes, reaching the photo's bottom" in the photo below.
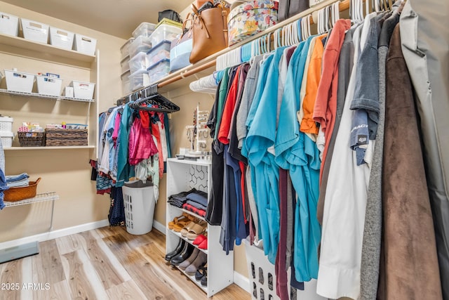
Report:
[[[358,299],[360,296],[361,247],[369,169],[366,164],[356,166],[355,152],[348,147],[354,113],[349,109],[351,100],[348,99],[354,96],[354,70],[358,62],[361,28],[358,27],[354,32],[354,67],[335,139],[323,210],[316,292],[331,299],[342,296]]]

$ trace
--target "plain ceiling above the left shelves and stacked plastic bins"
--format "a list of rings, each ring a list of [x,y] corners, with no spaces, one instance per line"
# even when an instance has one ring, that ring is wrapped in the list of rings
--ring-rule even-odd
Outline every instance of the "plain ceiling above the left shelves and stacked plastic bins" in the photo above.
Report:
[[[2,0],[53,18],[128,39],[141,22],[157,23],[158,12],[181,13],[192,0]]]

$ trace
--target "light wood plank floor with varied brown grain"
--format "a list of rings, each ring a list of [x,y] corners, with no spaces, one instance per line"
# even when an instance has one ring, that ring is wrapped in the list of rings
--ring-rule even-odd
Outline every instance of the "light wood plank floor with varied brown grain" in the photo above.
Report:
[[[165,235],[105,227],[39,243],[39,254],[0,264],[0,300],[207,299],[164,259]],[[231,285],[217,300],[251,299]]]

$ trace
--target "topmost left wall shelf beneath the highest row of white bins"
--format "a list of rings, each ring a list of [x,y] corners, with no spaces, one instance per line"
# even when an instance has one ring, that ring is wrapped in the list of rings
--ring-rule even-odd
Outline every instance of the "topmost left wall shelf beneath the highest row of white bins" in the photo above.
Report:
[[[86,68],[95,61],[95,56],[8,34],[0,34],[0,52]]]

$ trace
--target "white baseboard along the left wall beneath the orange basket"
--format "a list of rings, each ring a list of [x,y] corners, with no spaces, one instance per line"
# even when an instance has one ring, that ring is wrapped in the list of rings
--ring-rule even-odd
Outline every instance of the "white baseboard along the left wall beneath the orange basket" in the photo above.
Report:
[[[0,249],[8,249],[11,247],[17,247],[21,244],[27,244],[29,242],[43,242],[46,240],[53,240],[58,237],[65,237],[66,235],[74,235],[75,233],[82,233],[83,231],[93,230],[101,227],[109,226],[109,221],[107,219],[85,223],[77,226],[62,228],[48,233],[39,233],[38,235],[30,235],[29,237],[22,237],[17,240],[10,240],[7,242],[0,243]]]

